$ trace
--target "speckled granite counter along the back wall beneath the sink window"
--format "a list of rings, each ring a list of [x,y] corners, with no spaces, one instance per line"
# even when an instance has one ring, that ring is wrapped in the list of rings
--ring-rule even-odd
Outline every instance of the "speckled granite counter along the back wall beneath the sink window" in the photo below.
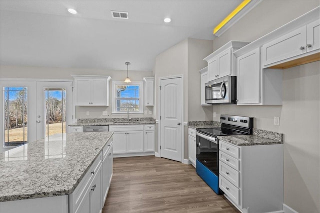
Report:
[[[69,126],[107,126],[107,125],[130,125],[130,124],[155,124],[153,118],[92,118],[78,119],[77,123],[69,124]]]

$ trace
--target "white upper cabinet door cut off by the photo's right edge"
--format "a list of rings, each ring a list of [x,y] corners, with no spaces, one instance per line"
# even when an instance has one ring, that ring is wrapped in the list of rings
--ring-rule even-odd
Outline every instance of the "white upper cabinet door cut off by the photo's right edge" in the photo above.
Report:
[[[320,20],[313,21],[306,25],[306,51],[313,51],[320,48]]]

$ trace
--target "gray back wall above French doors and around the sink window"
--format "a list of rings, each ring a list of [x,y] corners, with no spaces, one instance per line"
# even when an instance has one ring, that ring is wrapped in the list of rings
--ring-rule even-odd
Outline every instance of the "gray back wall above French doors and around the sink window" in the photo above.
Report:
[[[124,68],[125,65],[123,64]],[[104,70],[104,69],[74,69],[74,68],[55,68],[55,67],[28,67],[28,66],[0,66],[1,78],[40,78],[40,79],[73,79],[73,75],[108,75],[111,76],[111,81],[123,81],[126,77],[126,70]],[[143,81],[143,77],[152,77],[151,71],[130,71],[128,72],[131,81]],[[111,92],[110,81],[110,92]],[[144,92],[143,92],[144,93]],[[111,97],[111,93],[110,93]],[[77,106],[75,107],[75,118],[117,118],[125,117],[121,114],[111,114],[112,100],[108,107],[102,106]],[[102,111],[108,111],[108,115],[102,115]],[[143,111],[152,111],[152,115],[135,114],[131,117],[154,117],[153,106],[144,106]],[[90,115],[87,116],[86,112]]]

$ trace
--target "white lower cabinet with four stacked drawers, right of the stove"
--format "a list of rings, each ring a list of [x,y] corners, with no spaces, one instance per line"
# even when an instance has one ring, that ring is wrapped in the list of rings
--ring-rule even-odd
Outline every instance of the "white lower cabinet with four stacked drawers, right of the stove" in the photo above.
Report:
[[[281,212],[283,145],[239,147],[220,139],[219,188],[241,213]]]

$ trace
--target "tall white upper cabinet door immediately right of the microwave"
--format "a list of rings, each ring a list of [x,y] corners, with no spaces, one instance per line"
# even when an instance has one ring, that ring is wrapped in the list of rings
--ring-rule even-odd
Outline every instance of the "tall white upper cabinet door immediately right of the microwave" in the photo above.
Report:
[[[236,103],[260,103],[260,48],[237,57],[236,62]]]

